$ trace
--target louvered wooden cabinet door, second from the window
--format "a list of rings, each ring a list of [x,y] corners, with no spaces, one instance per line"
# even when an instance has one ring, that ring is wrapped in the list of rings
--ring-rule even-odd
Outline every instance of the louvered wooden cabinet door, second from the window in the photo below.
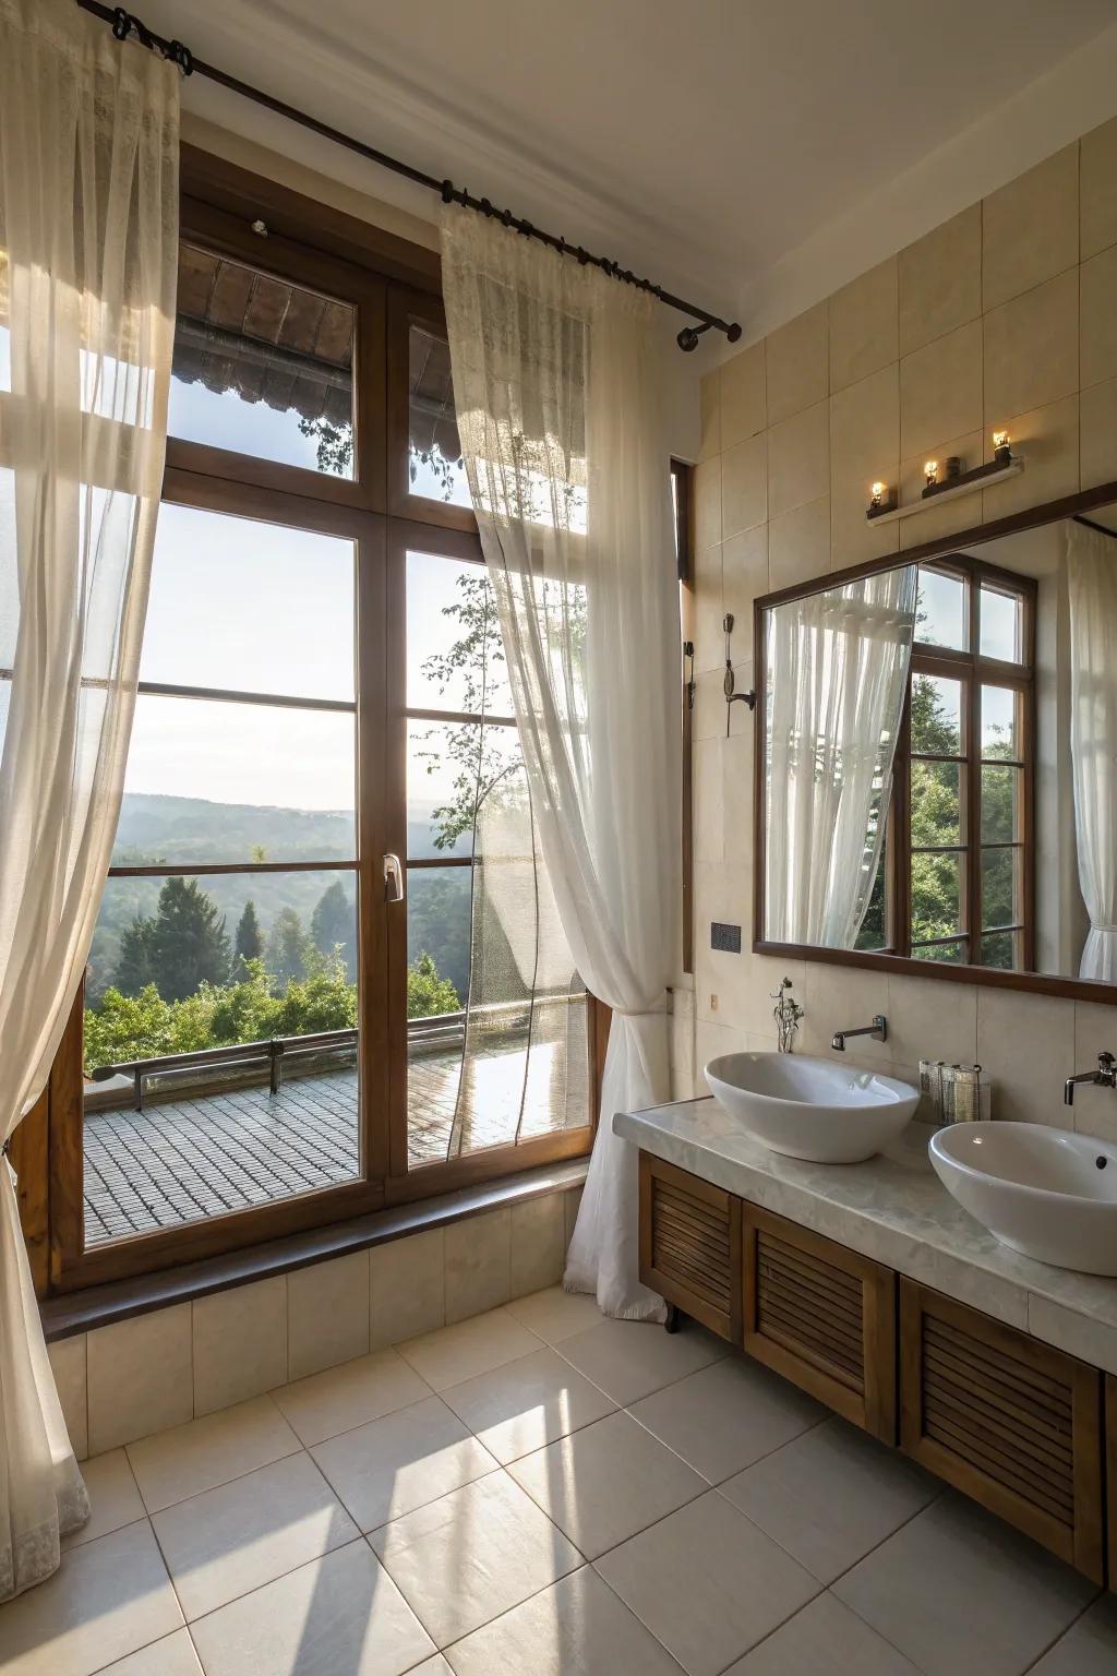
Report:
[[[749,1354],[894,1443],[893,1270],[749,1203],[744,1257]]]

